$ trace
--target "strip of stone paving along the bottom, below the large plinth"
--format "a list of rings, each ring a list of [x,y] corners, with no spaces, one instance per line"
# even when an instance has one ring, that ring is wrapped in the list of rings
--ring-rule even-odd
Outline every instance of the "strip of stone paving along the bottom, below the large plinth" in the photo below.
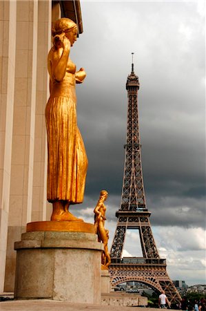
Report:
[[[47,299],[42,300],[17,300],[17,301],[2,301],[0,302],[0,310],[14,311],[157,311],[155,308],[140,308],[140,307],[120,307],[114,305],[90,305],[85,303],[68,303],[66,301],[52,301]]]

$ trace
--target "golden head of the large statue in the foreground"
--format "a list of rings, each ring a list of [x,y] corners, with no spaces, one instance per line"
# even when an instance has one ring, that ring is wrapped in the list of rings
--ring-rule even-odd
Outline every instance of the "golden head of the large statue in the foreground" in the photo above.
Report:
[[[61,41],[61,37],[65,35],[70,40],[71,46],[73,46],[77,37],[77,26],[72,19],[67,19],[63,17],[62,19],[58,19],[55,21],[54,26],[52,28],[52,36],[54,37],[54,42]]]

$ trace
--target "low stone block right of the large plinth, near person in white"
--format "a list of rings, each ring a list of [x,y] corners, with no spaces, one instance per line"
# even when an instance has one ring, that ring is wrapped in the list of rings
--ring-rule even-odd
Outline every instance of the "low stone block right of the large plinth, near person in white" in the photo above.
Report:
[[[139,294],[127,294],[121,292],[110,292],[110,294],[101,295],[102,305],[119,305],[121,307],[132,307],[147,305],[147,297],[140,296]]]

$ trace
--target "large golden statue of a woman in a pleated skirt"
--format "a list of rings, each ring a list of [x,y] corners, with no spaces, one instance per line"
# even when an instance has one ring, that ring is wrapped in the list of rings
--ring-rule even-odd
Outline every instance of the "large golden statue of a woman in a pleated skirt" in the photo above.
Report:
[[[52,202],[51,220],[79,220],[70,204],[83,202],[87,155],[76,123],[76,83],[83,82],[85,70],[76,72],[70,48],[77,37],[76,23],[62,18],[54,23],[53,42],[48,54],[50,98],[45,108],[48,137],[47,198]]]

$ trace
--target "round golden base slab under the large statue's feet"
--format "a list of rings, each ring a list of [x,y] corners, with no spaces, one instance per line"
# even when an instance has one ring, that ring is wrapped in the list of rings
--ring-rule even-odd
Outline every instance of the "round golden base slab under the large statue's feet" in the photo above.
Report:
[[[35,221],[26,225],[26,232],[58,231],[94,234],[94,225],[83,221]]]

